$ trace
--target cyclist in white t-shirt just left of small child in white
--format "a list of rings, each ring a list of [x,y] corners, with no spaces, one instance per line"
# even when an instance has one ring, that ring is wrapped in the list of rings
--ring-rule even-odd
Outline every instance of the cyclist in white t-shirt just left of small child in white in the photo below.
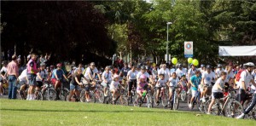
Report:
[[[104,96],[107,97],[107,88],[112,82],[112,72],[110,72],[111,67],[106,66],[105,71],[102,73],[102,86],[104,87]]]

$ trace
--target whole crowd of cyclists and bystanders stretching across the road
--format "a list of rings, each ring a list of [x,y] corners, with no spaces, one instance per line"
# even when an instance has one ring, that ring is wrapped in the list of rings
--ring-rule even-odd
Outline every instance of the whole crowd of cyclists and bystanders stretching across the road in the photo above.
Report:
[[[42,57],[42,56],[41,56]],[[256,68],[253,62],[227,66],[193,64],[189,67],[165,63],[121,64],[97,69],[96,64],[73,65],[66,74],[63,65],[38,64],[30,54],[20,70],[18,57],[3,61],[0,95],[9,83],[9,99],[67,100],[178,109],[187,100],[190,109],[198,106],[207,114],[256,119]],[[99,66],[100,67],[100,66]],[[20,71],[20,72],[19,72]],[[66,85],[66,87],[65,87]],[[230,99],[227,99],[227,98]],[[226,103],[228,103],[226,105]],[[227,107],[224,107],[227,106]]]

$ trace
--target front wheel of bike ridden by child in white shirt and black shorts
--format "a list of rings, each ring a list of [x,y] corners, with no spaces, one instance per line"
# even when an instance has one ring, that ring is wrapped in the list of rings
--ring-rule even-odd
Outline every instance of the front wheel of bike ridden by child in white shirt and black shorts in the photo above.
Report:
[[[243,107],[237,100],[230,100],[226,109],[228,117],[238,117],[243,112]]]

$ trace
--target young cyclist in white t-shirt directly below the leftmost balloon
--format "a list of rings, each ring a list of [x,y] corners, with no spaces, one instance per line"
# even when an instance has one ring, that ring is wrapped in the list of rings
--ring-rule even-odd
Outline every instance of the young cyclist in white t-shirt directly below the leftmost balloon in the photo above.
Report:
[[[169,85],[169,101],[168,101],[168,105],[170,105],[170,101],[172,101],[172,94],[175,91],[174,89],[176,89],[178,87],[178,85],[180,85],[180,81],[177,78],[177,74],[176,72],[172,72],[172,77],[169,78],[168,81]],[[177,95],[180,93],[180,90],[177,90]]]

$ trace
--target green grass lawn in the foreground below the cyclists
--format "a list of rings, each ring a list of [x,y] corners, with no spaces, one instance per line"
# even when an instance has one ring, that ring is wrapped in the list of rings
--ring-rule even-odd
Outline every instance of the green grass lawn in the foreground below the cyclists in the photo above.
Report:
[[[196,112],[65,101],[0,99],[0,125],[256,125]]]

